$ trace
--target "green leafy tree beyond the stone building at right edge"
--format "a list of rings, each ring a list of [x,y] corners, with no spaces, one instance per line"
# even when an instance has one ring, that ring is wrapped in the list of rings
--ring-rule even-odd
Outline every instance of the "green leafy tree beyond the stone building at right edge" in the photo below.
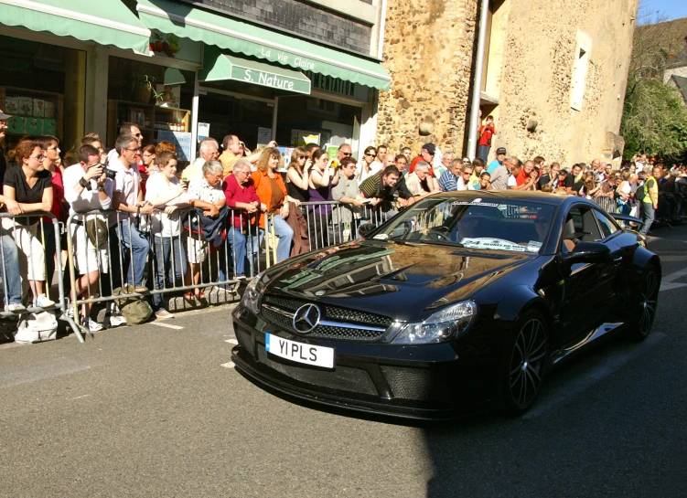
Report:
[[[620,125],[626,159],[641,153],[675,161],[687,156],[687,106],[680,91],[663,82],[671,58],[684,48],[683,34],[679,24],[664,21],[640,5]]]

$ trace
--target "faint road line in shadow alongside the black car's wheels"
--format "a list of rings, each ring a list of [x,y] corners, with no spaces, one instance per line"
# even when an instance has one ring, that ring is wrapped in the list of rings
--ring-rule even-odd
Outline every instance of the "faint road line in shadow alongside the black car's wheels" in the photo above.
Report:
[[[537,419],[553,409],[560,408],[574,397],[578,397],[585,392],[589,387],[598,384],[600,380],[615,373],[622,366],[627,365],[636,356],[644,355],[647,349],[659,344],[660,341],[665,339],[665,336],[666,334],[662,333],[650,334],[637,347],[633,347],[624,353],[610,355],[603,364],[596,366],[596,368],[586,372],[584,375],[577,376],[571,381],[564,381],[555,388],[555,391],[548,391],[545,397],[540,397],[538,404],[523,415],[522,419]]]

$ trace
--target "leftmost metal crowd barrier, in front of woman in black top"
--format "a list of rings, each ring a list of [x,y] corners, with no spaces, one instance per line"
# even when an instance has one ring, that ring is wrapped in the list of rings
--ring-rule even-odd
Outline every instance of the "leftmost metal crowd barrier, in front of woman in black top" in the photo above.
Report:
[[[27,225],[29,221],[28,218],[38,217],[38,222],[34,225]],[[43,218],[48,217],[50,222],[46,222]],[[0,213],[0,222],[2,223],[2,228],[0,228],[0,257],[2,261],[0,266],[2,267],[2,281],[3,281],[3,308],[0,310],[0,315],[4,317],[23,315],[26,313],[41,313],[45,311],[58,311],[60,320],[70,323],[70,327],[74,330],[79,341],[83,342],[83,336],[81,331],[77,329],[73,320],[67,315],[66,302],[65,302],[65,292],[64,292],[64,282],[62,273],[62,259],[61,259],[61,241],[60,236],[62,234],[61,223],[51,213],[44,213],[41,211],[22,214],[22,215],[12,215],[10,213]],[[52,231],[52,235],[50,235]],[[38,234],[40,234],[38,236]],[[19,240],[17,241],[17,237]],[[54,239],[54,248],[50,242]],[[28,240],[28,248],[27,246]],[[55,273],[57,273],[58,281],[58,296],[53,296],[55,298],[55,305],[49,308],[39,308],[35,306],[34,303],[29,303],[28,296],[32,293],[31,283],[28,281],[28,265],[31,265],[31,275],[36,275],[36,262],[34,258],[30,261],[27,258],[26,250],[31,251],[33,244],[39,241],[40,250],[43,251],[43,266],[46,274],[46,280],[44,281],[44,292],[48,298],[50,297],[50,287],[52,286],[52,281],[54,280]],[[46,248],[50,249],[46,251]],[[54,254],[52,254],[54,252]],[[50,264],[49,259],[54,258],[54,267]],[[22,264],[24,261],[26,263]],[[24,268],[26,265],[26,268]],[[50,269],[52,269],[52,275],[50,275]],[[9,273],[8,273],[9,270]],[[21,281],[21,295],[20,299],[26,309],[9,312],[8,306],[10,304],[10,281],[9,279],[19,278]],[[38,279],[35,279],[38,280]],[[16,284],[16,281],[14,282]],[[34,288],[36,284],[34,283]],[[14,296],[16,298],[16,296]],[[36,296],[34,296],[35,301]]]

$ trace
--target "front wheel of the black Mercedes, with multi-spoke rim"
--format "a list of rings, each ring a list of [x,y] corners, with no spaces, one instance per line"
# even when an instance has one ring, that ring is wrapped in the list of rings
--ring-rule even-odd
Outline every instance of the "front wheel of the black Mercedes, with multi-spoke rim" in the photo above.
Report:
[[[508,335],[499,376],[500,409],[519,417],[534,404],[549,362],[549,334],[542,313],[524,313]]]

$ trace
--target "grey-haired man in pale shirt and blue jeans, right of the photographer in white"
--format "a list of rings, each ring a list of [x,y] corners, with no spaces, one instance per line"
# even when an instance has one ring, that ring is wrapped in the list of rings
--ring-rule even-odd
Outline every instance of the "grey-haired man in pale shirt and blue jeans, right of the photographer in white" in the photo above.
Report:
[[[145,292],[147,288],[143,285],[143,277],[150,243],[141,231],[140,223],[142,215],[153,212],[153,205],[143,200],[141,175],[135,167],[136,155],[139,153],[138,140],[133,135],[120,135],[114,149],[118,155],[111,160],[109,168],[114,172],[112,206],[119,211],[116,216],[119,234],[117,230],[110,229],[110,247],[113,254],[118,250],[128,249],[122,258],[126,283],[133,285],[136,292]],[[119,287],[118,283],[121,284],[119,265],[115,260],[116,258],[113,258],[113,288]]]

